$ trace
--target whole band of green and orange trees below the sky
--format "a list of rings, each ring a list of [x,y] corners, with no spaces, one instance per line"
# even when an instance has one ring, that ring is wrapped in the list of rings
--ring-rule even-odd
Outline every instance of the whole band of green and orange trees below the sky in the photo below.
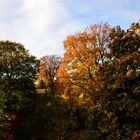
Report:
[[[94,24],[62,58],[1,41],[0,89],[2,140],[138,140],[140,24]]]

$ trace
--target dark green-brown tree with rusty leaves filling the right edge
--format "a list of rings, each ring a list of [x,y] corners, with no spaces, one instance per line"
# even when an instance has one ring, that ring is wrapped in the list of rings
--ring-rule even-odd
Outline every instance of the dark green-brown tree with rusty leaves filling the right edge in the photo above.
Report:
[[[100,66],[99,104],[94,120],[106,139],[140,137],[140,25],[110,31],[107,63]],[[98,115],[97,116],[97,112]],[[95,117],[97,116],[97,117]]]

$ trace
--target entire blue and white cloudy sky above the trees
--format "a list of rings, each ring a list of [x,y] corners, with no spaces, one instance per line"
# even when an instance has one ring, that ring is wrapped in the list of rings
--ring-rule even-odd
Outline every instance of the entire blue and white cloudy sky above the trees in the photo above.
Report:
[[[63,41],[92,24],[127,29],[140,20],[140,0],[0,0],[0,40],[19,42],[30,54],[64,53]]]

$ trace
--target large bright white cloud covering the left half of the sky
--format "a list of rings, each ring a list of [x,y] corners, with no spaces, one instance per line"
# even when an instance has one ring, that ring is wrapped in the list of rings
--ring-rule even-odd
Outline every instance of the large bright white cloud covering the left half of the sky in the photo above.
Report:
[[[21,42],[38,57],[62,54],[63,40],[73,29],[76,31],[82,25],[71,18],[65,6],[67,2],[20,0],[18,3],[18,0],[14,0],[14,3],[9,4],[8,0],[1,1],[3,9],[0,10],[0,17],[5,18],[8,14],[9,19],[0,23],[0,38]],[[12,13],[7,13],[7,8]]]

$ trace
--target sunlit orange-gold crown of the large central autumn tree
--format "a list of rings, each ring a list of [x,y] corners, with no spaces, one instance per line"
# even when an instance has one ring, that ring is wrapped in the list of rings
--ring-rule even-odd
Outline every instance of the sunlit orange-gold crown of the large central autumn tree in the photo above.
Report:
[[[65,53],[58,77],[71,85],[70,92],[77,98],[89,97],[94,92],[93,86],[98,81],[96,72],[106,61],[109,30],[107,23],[95,24],[64,41]]]

